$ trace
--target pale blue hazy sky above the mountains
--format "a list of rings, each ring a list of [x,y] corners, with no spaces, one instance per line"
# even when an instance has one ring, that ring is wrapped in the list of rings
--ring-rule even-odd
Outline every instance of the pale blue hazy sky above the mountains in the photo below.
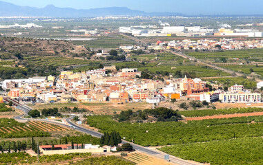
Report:
[[[0,0],[1,1],[1,0]],[[145,12],[182,14],[263,14],[263,0],[3,0],[16,5],[43,8],[52,4],[61,8],[128,7]]]

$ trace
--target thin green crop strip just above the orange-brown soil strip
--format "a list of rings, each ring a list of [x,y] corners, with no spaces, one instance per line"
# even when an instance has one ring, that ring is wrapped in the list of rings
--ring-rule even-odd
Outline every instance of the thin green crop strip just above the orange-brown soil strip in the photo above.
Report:
[[[180,111],[181,115],[185,117],[201,117],[206,115],[226,115],[235,113],[252,113],[261,112],[262,108],[249,107],[249,108],[231,108],[231,109],[205,109],[205,110],[193,110],[193,111]]]

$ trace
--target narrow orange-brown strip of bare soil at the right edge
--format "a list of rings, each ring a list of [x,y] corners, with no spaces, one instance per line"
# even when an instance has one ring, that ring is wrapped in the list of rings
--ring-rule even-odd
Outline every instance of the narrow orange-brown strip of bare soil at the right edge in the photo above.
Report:
[[[190,120],[205,120],[205,119],[235,118],[235,117],[247,117],[247,116],[255,116],[255,115],[263,115],[263,112],[235,113],[228,115],[209,115],[204,117],[185,118],[185,120],[190,121]]]

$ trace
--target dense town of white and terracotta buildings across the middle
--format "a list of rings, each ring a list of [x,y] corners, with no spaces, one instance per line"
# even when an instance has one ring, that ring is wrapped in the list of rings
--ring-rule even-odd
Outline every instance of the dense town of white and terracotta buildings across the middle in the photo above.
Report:
[[[168,80],[140,79],[137,68],[117,71],[114,65],[103,69],[74,73],[61,72],[58,77],[32,77],[28,79],[4,80],[1,87],[6,96],[16,100],[41,102],[148,102],[159,103],[173,99],[188,98],[206,102],[260,103],[259,91],[233,85],[224,89],[222,85],[206,83],[199,78],[173,78]],[[211,89],[209,89],[209,86]]]

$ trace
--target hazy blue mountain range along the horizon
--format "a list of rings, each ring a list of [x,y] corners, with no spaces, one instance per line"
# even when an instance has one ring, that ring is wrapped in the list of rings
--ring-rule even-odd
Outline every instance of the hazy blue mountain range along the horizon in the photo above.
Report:
[[[95,8],[77,10],[74,8],[57,8],[47,5],[45,8],[32,8],[0,1],[0,17],[106,17],[106,16],[178,16],[176,12],[143,12],[129,8]]]

